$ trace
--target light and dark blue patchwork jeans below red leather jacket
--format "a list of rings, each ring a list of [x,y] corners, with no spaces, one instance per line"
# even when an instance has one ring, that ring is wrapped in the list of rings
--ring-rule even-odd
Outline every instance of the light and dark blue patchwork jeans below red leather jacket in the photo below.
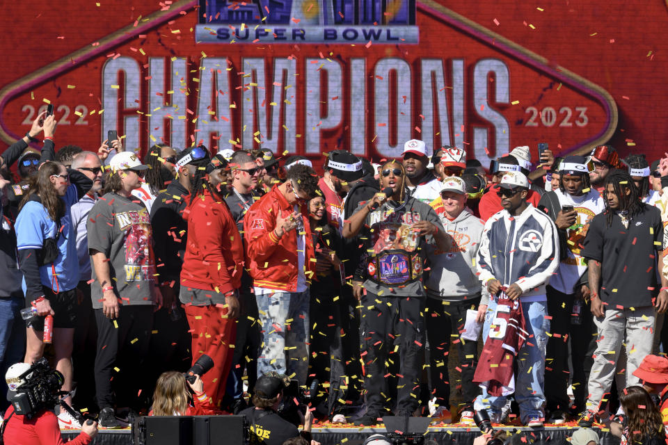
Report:
[[[309,292],[257,295],[262,323],[262,351],[257,377],[269,371],[286,374],[306,385],[308,376]]]

